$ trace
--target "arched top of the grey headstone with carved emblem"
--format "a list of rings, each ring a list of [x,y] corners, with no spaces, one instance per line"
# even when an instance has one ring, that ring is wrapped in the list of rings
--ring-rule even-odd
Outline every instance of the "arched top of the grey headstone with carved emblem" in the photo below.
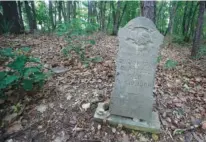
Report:
[[[126,42],[131,46],[149,46],[162,44],[163,36],[157,30],[155,24],[146,17],[137,17],[120,28],[118,32],[120,43]]]

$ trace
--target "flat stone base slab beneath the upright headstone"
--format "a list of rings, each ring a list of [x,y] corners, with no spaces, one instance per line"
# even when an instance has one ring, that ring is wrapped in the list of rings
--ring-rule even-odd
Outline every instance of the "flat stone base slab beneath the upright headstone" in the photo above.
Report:
[[[157,112],[152,113],[151,122],[138,121],[132,118],[112,115],[108,110],[105,110],[105,103],[99,103],[94,114],[94,120],[98,122],[109,122],[111,125],[121,124],[125,128],[140,130],[144,132],[160,133],[160,122]]]

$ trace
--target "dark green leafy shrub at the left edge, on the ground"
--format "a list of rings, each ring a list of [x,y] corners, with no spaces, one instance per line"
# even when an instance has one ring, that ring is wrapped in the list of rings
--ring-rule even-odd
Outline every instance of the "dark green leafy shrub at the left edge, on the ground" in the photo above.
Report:
[[[0,50],[0,56],[9,61],[5,66],[9,70],[0,72],[0,97],[8,88],[21,89],[26,91],[34,89],[34,86],[41,87],[49,73],[43,73],[43,66],[39,59],[28,55],[28,47],[19,50],[4,48]],[[34,65],[29,65],[29,63]]]

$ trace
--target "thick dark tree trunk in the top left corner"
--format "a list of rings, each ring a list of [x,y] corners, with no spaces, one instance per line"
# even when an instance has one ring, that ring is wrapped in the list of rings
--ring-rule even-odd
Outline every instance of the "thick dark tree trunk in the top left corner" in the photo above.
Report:
[[[3,8],[3,17],[6,22],[6,26],[9,26],[10,33],[20,33],[20,23],[19,23],[19,15],[17,11],[16,1],[2,1]]]

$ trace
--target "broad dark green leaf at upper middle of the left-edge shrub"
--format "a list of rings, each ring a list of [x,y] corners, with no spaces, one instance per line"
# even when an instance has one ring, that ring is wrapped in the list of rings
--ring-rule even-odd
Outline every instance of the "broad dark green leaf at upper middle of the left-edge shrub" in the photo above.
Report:
[[[13,70],[22,70],[26,64],[26,57],[25,56],[19,56],[14,60],[12,63],[8,64],[8,67],[10,67]]]

